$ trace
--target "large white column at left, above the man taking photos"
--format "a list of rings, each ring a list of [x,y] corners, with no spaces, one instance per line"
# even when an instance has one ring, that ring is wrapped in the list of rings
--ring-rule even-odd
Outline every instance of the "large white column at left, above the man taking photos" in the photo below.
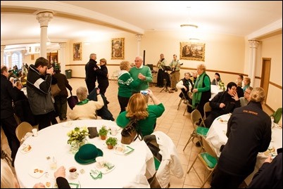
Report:
[[[40,23],[40,56],[47,58],[46,42],[48,22],[53,18],[53,11],[40,11],[37,13],[37,20]]]

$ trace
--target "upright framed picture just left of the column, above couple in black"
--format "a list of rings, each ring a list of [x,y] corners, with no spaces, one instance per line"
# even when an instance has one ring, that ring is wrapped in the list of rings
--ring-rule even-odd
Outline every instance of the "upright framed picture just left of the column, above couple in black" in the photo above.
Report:
[[[125,59],[125,38],[111,39],[111,59]]]

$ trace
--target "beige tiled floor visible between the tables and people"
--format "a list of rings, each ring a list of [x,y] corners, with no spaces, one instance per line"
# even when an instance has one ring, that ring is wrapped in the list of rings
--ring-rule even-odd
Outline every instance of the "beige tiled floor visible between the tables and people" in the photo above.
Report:
[[[86,86],[84,79],[68,79],[70,85],[73,87],[73,94],[75,94],[76,89],[79,86]],[[153,94],[161,100],[163,105],[165,106],[165,112],[161,117],[157,119],[156,131],[163,131],[167,133],[172,141],[175,143],[177,147],[177,152],[180,157],[180,161],[182,163],[182,167],[184,170],[184,176],[182,178],[176,178],[175,176],[170,177],[170,188],[200,188],[201,182],[199,178],[196,176],[194,171],[190,171],[187,174],[187,170],[200,148],[196,148],[196,146],[192,143],[187,146],[187,148],[183,151],[184,145],[187,143],[187,140],[190,136],[191,131],[193,130],[193,126],[191,124],[191,119],[189,113],[183,116],[184,109],[186,105],[181,103],[180,109],[177,110],[177,105],[180,101],[179,93],[180,90],[174,93],[168,93],[163,90],[163,88],[158,88],[152,85],[150,89],[153,91]],[[112,112],[113,117],[116,118],[120,112],[120,106],[118,103],[118,84],[117,81],[110,81],[110,85],[106,91],[106,97],[110,102],[108,104],[108,109]],[[149,100],[149,104],[152,104],[152,101]],[[263,105],[263,110],[270,115],[272,113],[265,105]],[[70,112],[70,108],[68,107],[68,112]],[[101,119],[98,117],[98,119]],[[58,119],[58,122],[60,120]],[[2,136],[4,133],[1,129]],[[6,141],[6,137],[4,136],[3,143],[4,150],[11,155],[11,150],[8,148],[8,143]],[[200,162],[196,162],[197,171],[204,177],[205,174],[208,174],[205,169],[202,167]],[[206,183],[204,188],[210,188],[210,181]]]

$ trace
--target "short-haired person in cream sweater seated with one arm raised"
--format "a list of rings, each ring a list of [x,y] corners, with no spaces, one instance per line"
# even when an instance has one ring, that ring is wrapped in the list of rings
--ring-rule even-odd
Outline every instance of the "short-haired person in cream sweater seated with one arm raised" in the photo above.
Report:
[[[89,100],[87,98],[87,88],[80,86],[77,88],[77,98],[79,103],[75,105],[72,112],[70,112],[70,119],[96,119],[96,110],[103,107],[103,99],[99,93],[99,89],[96,89],[97,101]]]

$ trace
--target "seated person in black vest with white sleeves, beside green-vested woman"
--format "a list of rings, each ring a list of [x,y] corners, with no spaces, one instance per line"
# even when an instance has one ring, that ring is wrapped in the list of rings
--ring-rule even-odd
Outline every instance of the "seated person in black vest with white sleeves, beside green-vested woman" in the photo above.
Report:
[[[191,98],[189,98],[188,96],[188,92],[191,91],[193,89],[193,84],[191,82],[191,79],[189,79],[189,77],[191,77],[191,74],[189,72],[185,72],[184,73],[184,78],[180,80],[180,82],[178,82],[176,84],[177,89],[181,89],[181,93],[180,93],[180,98],[184,97],[187,99],[187,101],[185,101],[185,103],[189,102],[189,100],[191,101]]]

